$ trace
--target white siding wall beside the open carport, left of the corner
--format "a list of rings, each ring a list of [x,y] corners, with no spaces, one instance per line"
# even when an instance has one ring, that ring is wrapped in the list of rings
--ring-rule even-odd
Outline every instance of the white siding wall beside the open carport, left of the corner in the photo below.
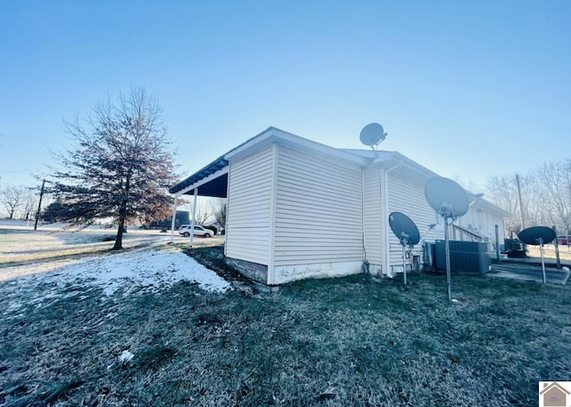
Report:
[[[273,146],[230,163],[226,256],[269,265]]]

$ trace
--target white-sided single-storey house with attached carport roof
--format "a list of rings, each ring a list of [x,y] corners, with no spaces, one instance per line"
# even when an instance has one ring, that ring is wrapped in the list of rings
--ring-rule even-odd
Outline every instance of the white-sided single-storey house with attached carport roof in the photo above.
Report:
[[[401,212],[423,240],[443,239],[443,221],[424,195],[435,176],[396,151],[339,150],[269,127],[170,192],[177,199],[228,198],[227,262],[255,280],[281,284],[401,272],[401,245],[388,217]],[[503,237],[506,213],[481,197],[468,198],[468,214],[456,221],[451,239],[495,244],[495,225]],[[413,254],[422,256],[422,245]]]

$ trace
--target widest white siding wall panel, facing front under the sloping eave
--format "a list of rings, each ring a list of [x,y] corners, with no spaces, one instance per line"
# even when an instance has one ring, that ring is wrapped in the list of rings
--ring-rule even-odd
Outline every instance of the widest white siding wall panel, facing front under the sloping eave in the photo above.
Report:
[[[359,166],[278,146],[274,265],[362,261],[361,196]]]

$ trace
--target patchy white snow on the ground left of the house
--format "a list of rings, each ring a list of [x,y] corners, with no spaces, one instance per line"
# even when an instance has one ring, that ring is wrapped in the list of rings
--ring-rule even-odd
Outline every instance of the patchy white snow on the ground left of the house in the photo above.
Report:
[[[103,289],[103,298],[136,295],[169,288],[178,281],[194,281],[214,292],[231,289],[228,281],[173,250],[144,248],[110,256],[87,257],[47,273],[4,281],[0,288],[10,297],[10,309],[21,305],[46,305],[61,297],[81,296]],[[4,286],[4,287],[2,287]]]

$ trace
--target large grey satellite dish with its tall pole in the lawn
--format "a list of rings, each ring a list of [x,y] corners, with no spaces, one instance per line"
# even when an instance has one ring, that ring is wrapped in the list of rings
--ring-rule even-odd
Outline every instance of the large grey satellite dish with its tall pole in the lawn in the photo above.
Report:
[[[460,216],[466,215],[470,206],[466,191],[451,179],[436,177],[426,183],[425,197],[428,205],[444,219],[444,248],[446,251],[446,280],[448,300],[452,299],[450,272],[450,238],[448,226]]]

